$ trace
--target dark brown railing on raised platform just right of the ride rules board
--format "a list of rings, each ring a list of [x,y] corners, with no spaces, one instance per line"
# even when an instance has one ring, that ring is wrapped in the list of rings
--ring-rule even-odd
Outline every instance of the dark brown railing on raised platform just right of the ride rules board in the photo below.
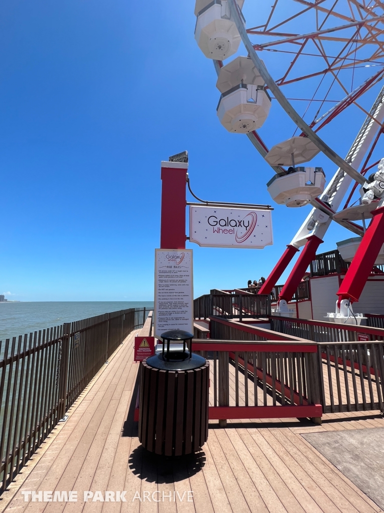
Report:
[[[271,313],[269,295],[205,294],[194,300],[195,319],[218,315],[227,319],[268,317]]]

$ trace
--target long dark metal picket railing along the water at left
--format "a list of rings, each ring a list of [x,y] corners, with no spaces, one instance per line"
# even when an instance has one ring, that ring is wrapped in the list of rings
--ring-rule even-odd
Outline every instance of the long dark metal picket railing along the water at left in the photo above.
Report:
[[[0,341],[0,494],[148,308],[130,308]]]

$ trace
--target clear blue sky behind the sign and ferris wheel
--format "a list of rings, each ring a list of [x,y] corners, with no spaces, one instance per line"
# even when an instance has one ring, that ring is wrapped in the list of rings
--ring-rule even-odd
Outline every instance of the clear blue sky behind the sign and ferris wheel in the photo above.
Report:
[[[245,5],[246,17],[256,8]],[[160,161],[170,154],[188,150],[191,186],[204,199],[271,203],[273,171],[217,119],[217,77],[194,40],[193,11],[191,0],[1,3],[0,293],[8,299],[152,300]],[[277,73],[279,61],[268,68]],[[362,119],[346,114],[343,133],[328,129],[343,156]],[[260,133],[269,146],[293,133],[275,102]],[[335,171],[322,155],[315,164],[328,177]],[[273,246],[190,245],[196,296],[268,275],[309,211],[274,207]],[[349,236],[333,226],[320,250]]]

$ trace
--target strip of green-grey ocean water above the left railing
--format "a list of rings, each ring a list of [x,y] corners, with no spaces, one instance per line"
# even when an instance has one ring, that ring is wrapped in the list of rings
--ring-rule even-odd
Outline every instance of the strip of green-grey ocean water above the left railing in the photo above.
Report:
[[[152,307],[151,301],[50,301],[0,303],[0,340],[126,308]]]

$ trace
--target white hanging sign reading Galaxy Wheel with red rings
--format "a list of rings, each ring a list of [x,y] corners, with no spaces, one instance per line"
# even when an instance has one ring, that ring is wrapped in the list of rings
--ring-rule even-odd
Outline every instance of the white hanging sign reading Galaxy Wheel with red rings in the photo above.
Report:
[[[189,239],[199,246],[262,249],[273,244],[271,210],[191,205]]]

